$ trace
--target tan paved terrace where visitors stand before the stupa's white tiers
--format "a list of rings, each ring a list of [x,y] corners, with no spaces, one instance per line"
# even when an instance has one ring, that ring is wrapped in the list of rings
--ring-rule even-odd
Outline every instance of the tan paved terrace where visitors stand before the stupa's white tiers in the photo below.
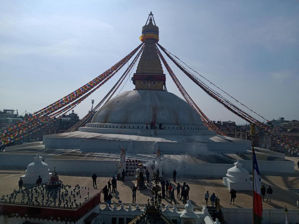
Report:
[[[24,171],[12,171],[12,170],[1,170],[0,171],[0,195],[10,194],[14,188],[18,189],[18,181],[21,175],[25,174]],[[97,188],[92,187],[92,179],[90,177],[83,176],[71,176],[71,175],[60,175],[60,179],[64,184],[71,186],[79,184],[80,186],[86,186],[90,188],[90,195],[96,194],[102,189],[110,179],[107,174],[104,177],[98,176]],[[173,182],[172,177],[164,176],[165,180],[169,180],[173,186],[176,183]],[[193,205],[199,208],[205,204],[204,195],[206,191],[215,193],[220,198],[220,205],[222,207],[239,207],[239,208],[250,208],[252,206],[252,193],[251,191],[238,191],[235,205],[230,205],[230,194],[229,190],[223,185],[222,179],[220,178],[208,178],[198,176],[180,176],[178,174],[177,183],[187,182],[190,186],[189,198]],[[299,188],[299,171],[296,164],[295,173],[289,176],[281,174],[262,175],[262,182],[266,188],[271,185],[273,188],[273,196],[271,203],[263,202],[263,208],[284,208],[287,206],[290,209],[296,208],[296,201],[299,200],[299,196],[296,193],[296,189]],[[121,200],[123,203],[132,202],[132,187],[137,183],[134,179],[126,179],[124,182],[117,182],[117,191],[113,194],[113,201],[118,202]],[[149,184],[149,188],[153,182]],[[161,193],[161,192],[160,192]],[[144,205],[147,199],[152,196],[149,189],[137,191],[136,204]],[[176,198],[177,199],[177,198]],[[112,202],[113,203],[113,202]],[[170,204],[169,197],[162,200],[163,204]],[[179,205],[183,205],[182,200],[177,200]],[[172,202],[173,204],[173,202]],[[210,205],[210,202],[208,203]]]

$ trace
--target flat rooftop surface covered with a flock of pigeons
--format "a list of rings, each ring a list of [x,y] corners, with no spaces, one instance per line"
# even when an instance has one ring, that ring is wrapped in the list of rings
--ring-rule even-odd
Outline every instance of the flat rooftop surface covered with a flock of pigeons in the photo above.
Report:
[[[71,185],[62,184],[60,187],[54,189],[47,188],[47,185],[42,184],[34,185],[31,188],[25,188],[21,191],[16,191],[15,188],[13,193],[2,195],[0,202],[76,208],[81,205],[81,202],[83,203],[88,200],[89,197],[89,187],[86,189],[86,187],[79,184],[74,186],[74,188]]]

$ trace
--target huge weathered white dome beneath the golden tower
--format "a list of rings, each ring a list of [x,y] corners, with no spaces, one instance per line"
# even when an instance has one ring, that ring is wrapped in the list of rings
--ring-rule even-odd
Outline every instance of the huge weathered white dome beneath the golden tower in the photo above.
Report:
[[[202,126],[202,119],[183,99],[159,90],[131,90],[118,94],[104,104],[91,123],[144,124],[151,122],[153,107],[157,124]]]

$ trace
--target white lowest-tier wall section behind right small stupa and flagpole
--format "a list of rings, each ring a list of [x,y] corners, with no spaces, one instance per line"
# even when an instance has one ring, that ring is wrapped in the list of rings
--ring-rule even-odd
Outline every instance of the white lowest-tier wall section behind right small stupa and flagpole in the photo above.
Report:
[[[234,160],[237,162],[237,160]],[[243,164],[243,168],[252,173],[252,160],[239,160]],[[294,173],[293,161],[265,161],[259,160],[259,170],[261,172],[282,172],[282,173]]]

